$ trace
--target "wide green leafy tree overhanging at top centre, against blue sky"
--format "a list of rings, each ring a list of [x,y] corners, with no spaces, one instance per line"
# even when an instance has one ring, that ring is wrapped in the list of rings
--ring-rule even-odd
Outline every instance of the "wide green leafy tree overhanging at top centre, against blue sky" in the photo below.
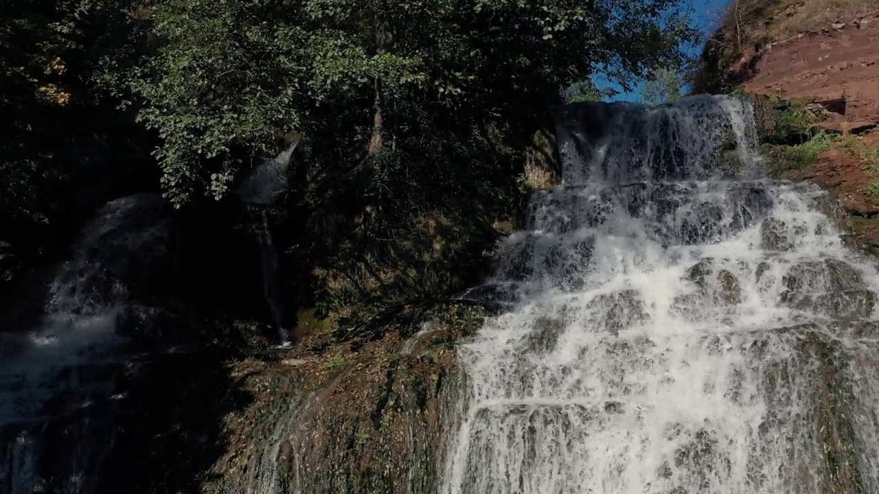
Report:
[[[694,36],[676,0],[168,0],[152,15],[163,46],[133,87],[178,203],[222,196],[290,130],[362,170],[439,122],[524,125],[599,64],[630,87]]]

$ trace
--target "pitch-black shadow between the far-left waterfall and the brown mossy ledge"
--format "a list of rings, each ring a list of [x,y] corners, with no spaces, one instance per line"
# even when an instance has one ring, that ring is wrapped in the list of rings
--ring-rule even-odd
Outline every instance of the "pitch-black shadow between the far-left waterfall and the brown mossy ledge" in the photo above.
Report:
[[[200,491],[229,450],[224,418],[252,400],[229,375],[228,357],[210,351],[156,355],[125,376],[96,494]]]

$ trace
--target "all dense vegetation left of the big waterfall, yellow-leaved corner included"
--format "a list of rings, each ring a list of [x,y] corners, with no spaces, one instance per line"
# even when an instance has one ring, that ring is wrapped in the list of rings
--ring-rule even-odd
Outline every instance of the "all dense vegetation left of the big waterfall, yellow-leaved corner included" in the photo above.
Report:
[[[150,163],[187,207],[298,142],[273,216],[287,304],[336,320],[360,308],[345,328],[476,280],[523,187],[540,185],[523,171],[552,162],[550,108],[603,96],[583,83],[599,70],[631,89],[695,39],[677,0],[0,9],[0,241],[22,252],[37,226],[75,223],[61,194],[87,163],[113,162],[101,176]]]

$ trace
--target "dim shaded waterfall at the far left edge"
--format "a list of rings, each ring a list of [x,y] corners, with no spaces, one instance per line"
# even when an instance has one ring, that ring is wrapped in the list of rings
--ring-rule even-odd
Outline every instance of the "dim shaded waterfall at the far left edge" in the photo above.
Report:
[[[128,365],[124,309],[168,271],[170,211],[153,194],[108,203],[59,266],[42,323],[0,332],[0,493],[94,491]]]

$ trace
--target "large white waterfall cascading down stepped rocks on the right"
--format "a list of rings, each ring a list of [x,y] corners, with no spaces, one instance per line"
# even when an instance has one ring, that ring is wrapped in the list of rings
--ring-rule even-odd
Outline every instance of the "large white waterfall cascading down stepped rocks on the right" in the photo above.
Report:
[[[732,98],[565,110],[443,494],[879,491],[879,275],[752,134]]]

